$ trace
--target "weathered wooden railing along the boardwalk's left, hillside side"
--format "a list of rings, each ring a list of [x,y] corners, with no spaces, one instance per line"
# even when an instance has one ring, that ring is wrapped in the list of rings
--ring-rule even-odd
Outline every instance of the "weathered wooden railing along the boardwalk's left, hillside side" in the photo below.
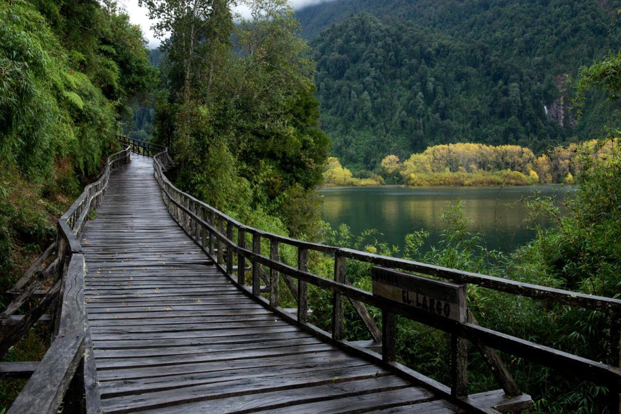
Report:
[[[112,168],[129,162],[130,147],[107,158],[99,179],[58,220],[57,240],[9,291],[16,295],[2,312],[12,329],[0,343],[0,358],[35,323],[50,323],[52,344],[40,362],[2,362],[2,378],[29,377],[8,413],[101,413],[91,335],[84,318],[84,256],[79,236],[89,214],[101,204]],[[52,287],[37,290],[46,282]],[[14,315],[35,296],[42,299],[25,315]],[[51,317],[43,315],[51,310]]]

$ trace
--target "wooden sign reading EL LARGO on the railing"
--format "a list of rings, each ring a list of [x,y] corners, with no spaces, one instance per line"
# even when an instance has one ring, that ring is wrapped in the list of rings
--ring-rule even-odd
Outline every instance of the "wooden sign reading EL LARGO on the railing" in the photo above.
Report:
[[[373,294],[443,318],[466,322],[466,285],[373,266]]]

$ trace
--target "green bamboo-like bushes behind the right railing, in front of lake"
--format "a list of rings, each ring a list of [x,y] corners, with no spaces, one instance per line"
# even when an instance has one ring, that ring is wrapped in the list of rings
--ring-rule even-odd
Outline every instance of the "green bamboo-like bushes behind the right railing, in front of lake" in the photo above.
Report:
[[[592,163],[592,168],[585,164],[581,166],[581,186],[569,201],[571,214],[561,217],[558,207],[551,200],[533,202],[530,205],[533,214],[547,215],[558,222],[550,230],[540,231],[540,238],[512,254],[485,248],[481,236],[468,230],[469,218],[463,215],[463,203],[459,200],[456,204],[446,205],[440,212],[443,240],[437,248],[424,254],[418,251],[427,236],[423,231],[406,237],[403,253],[379,241],[380,235],[376,230],[367,230],[355,236],[346,225],[329,230],[327,241],[332,245],[402,256],[448,268],[612,296],[619,292],[620,287],[621,250],[613,240],[621,236],[621,220],[617,217],[618,209],[609,204],[609,197],[617,199],[621,186],[616,182],[617,178],[610,183],[604,178],[610,179],[610,173],[619,168],[619,157],[610,164],[596,163],[593,158],[589,156],[584,159],[584,163]],[[576,212],[580,213],[574,215]],[[604,217],[609,217],[610,222],[605,221],[601,227],[594,227],[596,223],[589,222]],[[611,242],[612,246],[608,246]],[[320,256],[315,257],[315,261],[321,264],[312,263],[312,271],[330,277],[332,259]],[[347,274],[353,286],[368,291],[371,290],[370,270],[369,264],[347,261]],[[332,297],[323,291],[311,289],[310,292],[309,306],[314,310],[312,322],[329,330]],[[602,313],[546,304],[478,286],[468,287],[468,307],[486,328],[595,361],[607,358],[610,320]],[[376,323],[381,323],[381,313],[373,307],[369,311]],[[345,317],[345,337],[348,340],[369,339],[365,326],[348,304]],[[445,333],[406,318],[397,318],[399,361],[445,384],[450,384],[449,344],[450,338]],[[605,399],[602,395],[608,392],[604,387],[507,354],[502,354],[502,357],[521,389],[532,395],[536,403],[535,412],[596,413],[604,410]],[[468,360],[470,393],[498,388],[489,367],[472,347]]]

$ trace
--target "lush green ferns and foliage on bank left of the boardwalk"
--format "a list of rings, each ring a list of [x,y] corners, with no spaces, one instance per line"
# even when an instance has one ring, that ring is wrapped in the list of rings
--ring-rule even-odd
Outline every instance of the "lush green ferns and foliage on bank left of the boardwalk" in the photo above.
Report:
[[[114,2],[0,4],[3,291],[117,148],[120,112],[153,73],[140,30]]]

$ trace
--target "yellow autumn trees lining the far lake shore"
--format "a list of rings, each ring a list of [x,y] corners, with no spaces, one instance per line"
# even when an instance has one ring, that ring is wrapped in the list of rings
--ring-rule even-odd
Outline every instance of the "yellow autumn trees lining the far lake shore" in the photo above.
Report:
[[[351,171],[330,157],[324,172],[325,187],[383,186],[529,186],[576,184],[578,155],[610,152],[612,143],[597,147],[591,140],[557,147],[535,155],[519,145],[454,143],[434,145],[405,161],[387,155],[374,171]]]

